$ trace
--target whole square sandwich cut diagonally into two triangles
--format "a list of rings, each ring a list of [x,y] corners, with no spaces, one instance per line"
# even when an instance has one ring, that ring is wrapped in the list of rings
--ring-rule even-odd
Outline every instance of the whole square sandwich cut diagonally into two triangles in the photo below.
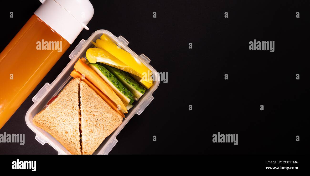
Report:
[[[92,154],[121,123],[114,111],[80,78],[72,79],[60,94],[33,118],[71,154]]]

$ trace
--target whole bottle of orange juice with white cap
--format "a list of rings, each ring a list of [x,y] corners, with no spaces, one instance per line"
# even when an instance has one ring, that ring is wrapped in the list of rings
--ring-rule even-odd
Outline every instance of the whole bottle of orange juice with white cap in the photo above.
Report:
[[[88,0],[42,5],[0,54],[0,129],[91,20]],[[23,114],[24,115],[24,114]]]

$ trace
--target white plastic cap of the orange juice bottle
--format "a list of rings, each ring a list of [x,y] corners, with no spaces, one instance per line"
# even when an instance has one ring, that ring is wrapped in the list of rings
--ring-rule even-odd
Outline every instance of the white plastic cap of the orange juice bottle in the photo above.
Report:
[[[94,15],[88,0],[40,0],[41,6],[34,12],[42,21],[70,44],[87,28]]]

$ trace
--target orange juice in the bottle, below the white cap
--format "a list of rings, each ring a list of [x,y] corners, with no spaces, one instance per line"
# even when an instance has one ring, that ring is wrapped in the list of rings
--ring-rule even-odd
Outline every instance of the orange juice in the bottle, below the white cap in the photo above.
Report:
[[[69,46],[69,42],[33,15],[1,52],[0,128]]]

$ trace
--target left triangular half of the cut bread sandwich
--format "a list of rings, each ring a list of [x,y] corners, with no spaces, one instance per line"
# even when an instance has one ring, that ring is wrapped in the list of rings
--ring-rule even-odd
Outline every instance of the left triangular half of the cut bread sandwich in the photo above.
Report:
[[[36,126],[50,133],[71,154],[81,154],[79,84],[79,78],[72,79],[58,97],[33,118]]]

